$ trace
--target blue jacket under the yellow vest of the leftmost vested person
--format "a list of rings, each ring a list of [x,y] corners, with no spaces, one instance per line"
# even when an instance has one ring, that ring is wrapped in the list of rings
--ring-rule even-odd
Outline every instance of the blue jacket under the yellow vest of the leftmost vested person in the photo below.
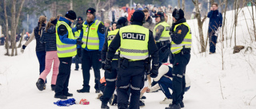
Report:
[[[67,20],[66,18],[60,17],[58,19],[58,21],[65,21],[68,25],[71,25],[71,21]],[[72,29],[72,32],[74,33],[75,30],[76,30],[76,28]],[[59,31],[59,29],[58,29],[58,31]],[[67,31],[66,34],[63,35],[63,36],[62,35],[58,35],[60,41],[62,41],[62,43],[64,43],[64,44],[76,45],[77,44],[77,40],[68,38],[68,33],[69,32]]]

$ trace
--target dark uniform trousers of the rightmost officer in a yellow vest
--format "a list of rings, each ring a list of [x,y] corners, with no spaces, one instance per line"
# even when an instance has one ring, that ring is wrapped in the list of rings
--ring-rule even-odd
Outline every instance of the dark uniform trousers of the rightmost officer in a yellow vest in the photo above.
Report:
[[[174,54],[173,68],[173,104],[181,103],[186,88],[186,65],[190,61],[190,53]]]

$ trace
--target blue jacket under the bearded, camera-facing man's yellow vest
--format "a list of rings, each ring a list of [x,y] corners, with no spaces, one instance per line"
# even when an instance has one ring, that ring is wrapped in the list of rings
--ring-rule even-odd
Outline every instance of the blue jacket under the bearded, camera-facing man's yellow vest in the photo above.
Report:
[[[95,21],[96,21],[96,18],[95,18],[94,21],[92,21],[89,25],[94,24]],[[85,25],[88,25],[87,21],[86,21],[84,24],[85,24]],[[101,25],[101,24],[100,24],[100,25]],[[98,26],[100,26],[100,25],[98,25]],[[104,25],[103,25],[103,26],[104,26]],[[104,29],[104,28],[103,28],[103,29]],[[103,33],[100,32],[100,31],[102,31],[102,29],[100,30],[100,27],[98,27],[98,31],[97,31],[97,33],[98,33],[98,39],[99,39],[99,49],[98,49],[98,51],[102,51],[102,47],[103,47],[104,42],[105,42],[105,33],[104,33],[104,30],[103,30]],[[81,30],[81,33],[80,33],[80,40],[82,40],[82,37],[83,37],[83,29]],[[86,46],[85,49],[86,49],[87,51],[95,51],[95,50],[90,50],[90,49],[88,49],[87,46]]]

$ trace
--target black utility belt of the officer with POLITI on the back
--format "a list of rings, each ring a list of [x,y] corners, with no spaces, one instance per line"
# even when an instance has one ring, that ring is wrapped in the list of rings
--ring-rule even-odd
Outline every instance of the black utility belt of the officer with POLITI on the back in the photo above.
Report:
[[[118,59],[118,68],[128,68],[128,67],[145,67],[146,70],[150,68],[150,58],[145,60],[129,60],[123,57]]]

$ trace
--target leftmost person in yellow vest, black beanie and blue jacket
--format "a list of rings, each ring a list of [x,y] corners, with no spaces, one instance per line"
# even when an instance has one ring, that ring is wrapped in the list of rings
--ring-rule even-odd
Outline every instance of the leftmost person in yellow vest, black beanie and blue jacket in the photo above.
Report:
[[[74,29],[70,27],[76,18],[74,11],[69,10],[65,18],[58,19],[56,25],[56,45],[60,64],[54,98],[67,99],[68,96],[73,96],[67,88],[70,80],[70,67],[72,56],[77,54],[77,45],[82,45],[82,41],[74,38]]]

